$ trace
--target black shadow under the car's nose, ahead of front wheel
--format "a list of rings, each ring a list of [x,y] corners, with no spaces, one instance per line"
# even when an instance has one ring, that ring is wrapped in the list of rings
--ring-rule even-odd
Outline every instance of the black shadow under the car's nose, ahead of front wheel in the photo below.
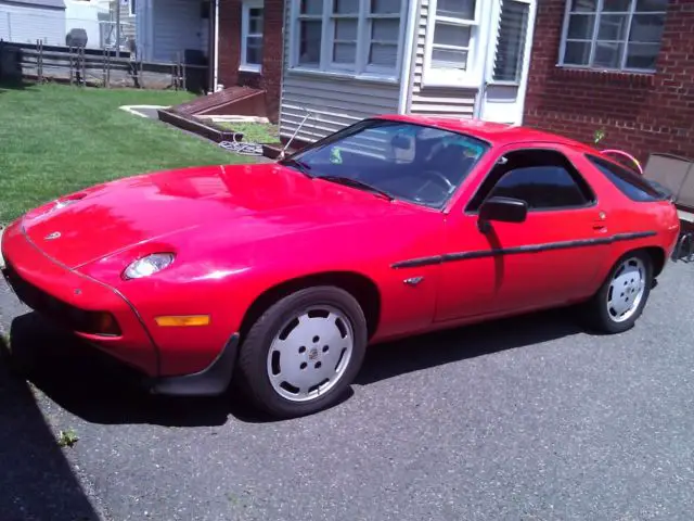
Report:
[[[15,318],[10,338],[26,378],[57,405],[89,422],[221,425],[231,412],[224,396],[167,398],[147,394],[129,368],[36,313]],[[232,414],[245,418],[242,410]]]

